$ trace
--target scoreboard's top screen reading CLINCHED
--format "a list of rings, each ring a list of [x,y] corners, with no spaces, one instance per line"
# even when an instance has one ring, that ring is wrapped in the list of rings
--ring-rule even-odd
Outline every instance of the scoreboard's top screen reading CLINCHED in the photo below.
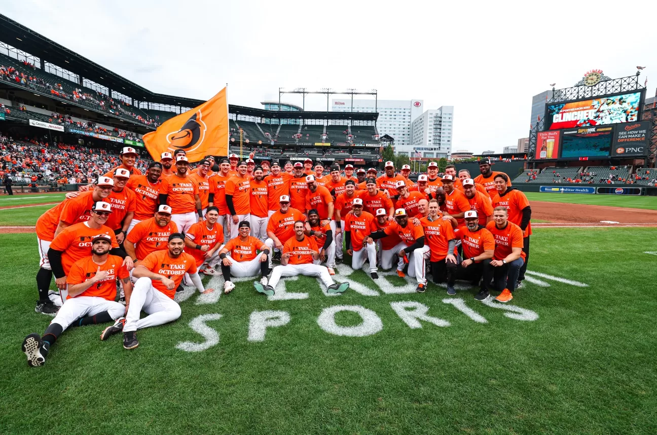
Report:
[[[637,122],[641,92],[546,104],[545,130]]]

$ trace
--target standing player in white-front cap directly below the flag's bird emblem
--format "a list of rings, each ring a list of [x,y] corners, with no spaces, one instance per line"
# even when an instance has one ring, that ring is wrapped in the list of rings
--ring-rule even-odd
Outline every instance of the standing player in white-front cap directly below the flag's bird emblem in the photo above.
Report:
[[[198,183],[187,171],[189,160],[186,156],[175,158],[175,173],[160,182],[160,204],[171,207],[171,220],[179,231],[187,231],[189,227],[203,218],[201,200],[198,196]],[[194,213],[196,212],[196,213]]]

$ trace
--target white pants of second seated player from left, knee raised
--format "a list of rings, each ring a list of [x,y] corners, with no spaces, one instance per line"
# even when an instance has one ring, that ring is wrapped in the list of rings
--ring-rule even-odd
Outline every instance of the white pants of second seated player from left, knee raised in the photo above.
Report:
[[[142,309],[148,315],[139,319]],[[180,306],[173,299],[154,288],[150,278],[141,277],[132,289],[130,306],[125,315],[124,332],[164,325],[180,315]]]

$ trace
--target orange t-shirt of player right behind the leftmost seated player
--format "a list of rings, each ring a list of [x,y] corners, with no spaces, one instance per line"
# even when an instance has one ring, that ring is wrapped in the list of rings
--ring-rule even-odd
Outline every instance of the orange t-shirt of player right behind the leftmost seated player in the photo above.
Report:
[[[68,275],[73,263],[91,255],[91,239],[99,234],[106,234],[112,238],[112,248],[119,247],[116,237],[114,237],[114,231],[110,227],[102,225],[99,229],[92,229],[89,228],[87,222],[75,223],[66,227],[53,239],[50,247],[62,252],[64,275]],[[121,261],[123,262],[123,260]]]

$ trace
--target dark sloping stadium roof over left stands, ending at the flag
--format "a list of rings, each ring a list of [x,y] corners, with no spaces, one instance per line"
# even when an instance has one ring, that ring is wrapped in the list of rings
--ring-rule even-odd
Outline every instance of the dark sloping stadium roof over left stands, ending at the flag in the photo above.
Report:
[[[122,76],[100,66],[99,64],[78,55],[74,51],[62,47],[52,39],[37,34],[11,18],[0,14],[0,35],[4,42],[9,43],[19,50],[26,51],[30,55],[41,58],[45,62],[51,62],[79,76],[104,85],[112,91],[117,91],[137,101],[148,101],[149,103],[173,104],[183,107],[195,107],[204,103],[203,100],[175,97],[148,91],[145,87],[137,85]]]

